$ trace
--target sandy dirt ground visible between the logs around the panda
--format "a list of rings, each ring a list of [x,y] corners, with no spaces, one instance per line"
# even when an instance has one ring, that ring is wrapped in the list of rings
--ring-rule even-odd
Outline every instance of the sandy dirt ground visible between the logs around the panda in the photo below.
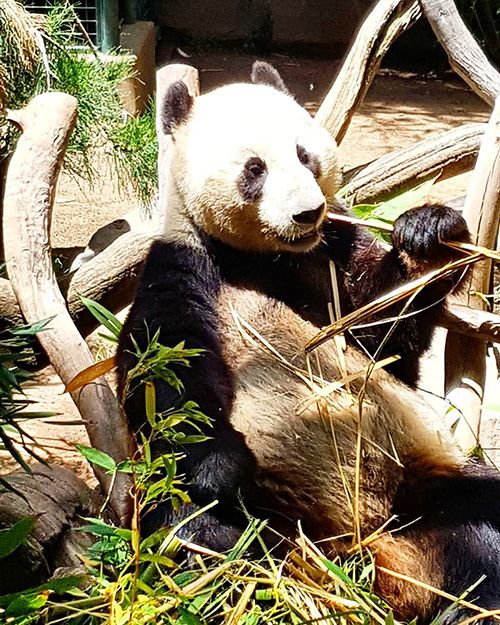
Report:
[[[190,54],[185,59],[173,55],[176,62],[190,63],[200,70],[202,91],[235,80],[246,80],[253,56],[224,51],[196,51],[183,49]],[[171,49],[160,47],[160,64]],[[297,59],[283,55],[269,58],[282,74],[297,100],[314,112],[326,93],[338,66],[338,61],[326,59]],[[370,88],[365,102],[356,113],[351,127],[340,146],[344,168],[371,161],[392,150],[410,145],[432,134],[448,130],[467,122],[485,121],[486,105],[459,80],[426,79],[417,75],[402,75],[382,71]],[[427,199],[451,200],[465,194],[468,175],[437,184]],[[59,184],[52,224],[54,247],[84,246],[100,226],[127,213],[137,204],[130,194],[120,194],[111,173],[103,172],[94,181],[78,185],[63,175]],[[436,371],[438,365],[430,371]],[[40,402],[43,410],[58,413],[49,422],[66,422],[65,425],[32,426],[35,437],[40,437],[43,453],[56,459],[62,450],[77,471],[89,477],[88,469],[79,454],[71,451],[74,442],[85,438],[78,415],[62,386],[50,369],[41,374],[39,384],[28,393]],[[439,392],[439,389],[437,390]],[[38,406],[37,406],[38,408]],[[0,469],[10,467],[7,458],[0,455]]]

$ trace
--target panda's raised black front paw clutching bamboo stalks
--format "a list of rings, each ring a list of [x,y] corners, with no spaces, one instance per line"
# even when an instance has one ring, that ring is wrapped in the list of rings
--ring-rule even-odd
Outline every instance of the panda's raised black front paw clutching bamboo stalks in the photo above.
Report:
[[[392,244],[415,260],[446,262],[456,258],[446,241],[469,241],[465,219],[448,206],[425,205],[406,211],[394,222]]]

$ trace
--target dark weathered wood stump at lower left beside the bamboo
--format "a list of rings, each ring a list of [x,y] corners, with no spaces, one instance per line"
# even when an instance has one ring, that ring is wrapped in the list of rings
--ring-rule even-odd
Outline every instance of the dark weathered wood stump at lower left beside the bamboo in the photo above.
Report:
[[[0,490],[0,529],[33,517],[29,540],[0,567],[0,594],[36,586],[58,567],[78,567],[77,554],[90,544],[89,536],[74,532],[83,517],[95,516],[100,501],[69,469],[36,465],[32,473],[19,470],[3,479],[13,490]]]

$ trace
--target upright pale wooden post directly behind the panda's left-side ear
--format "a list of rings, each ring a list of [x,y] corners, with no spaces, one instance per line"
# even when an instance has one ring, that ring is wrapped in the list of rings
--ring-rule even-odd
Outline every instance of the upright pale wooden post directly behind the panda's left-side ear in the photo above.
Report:
[[[182,80],[193,97],[200,95],[198,70],[190,65],[172,63],[165,65],[156,72],[156,135],[158,137],[158,202],[153,207],[153,222],[157,224],[158,232],[165,231],[165,216],[167,202],[171,196],[169,183],[170,176],[170,143],[172,137],[165,133],[163,127],[163,101],[169,86]]]

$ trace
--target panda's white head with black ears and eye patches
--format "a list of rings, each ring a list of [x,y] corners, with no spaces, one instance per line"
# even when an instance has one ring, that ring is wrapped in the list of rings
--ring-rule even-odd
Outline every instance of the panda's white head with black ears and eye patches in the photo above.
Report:
[[[337,188],[337,148],[272,66],[254,64],[252,83],[196,99],[182,82],[169,88],[162,121],[179,210],[238,249],[305,252]]]

